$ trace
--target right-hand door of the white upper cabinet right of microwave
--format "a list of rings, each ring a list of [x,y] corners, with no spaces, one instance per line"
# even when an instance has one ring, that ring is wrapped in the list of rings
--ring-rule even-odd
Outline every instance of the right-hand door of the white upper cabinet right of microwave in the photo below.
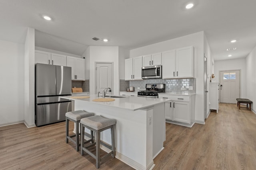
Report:
[[[176,49],[176,77],[193,77],[193,47]]]

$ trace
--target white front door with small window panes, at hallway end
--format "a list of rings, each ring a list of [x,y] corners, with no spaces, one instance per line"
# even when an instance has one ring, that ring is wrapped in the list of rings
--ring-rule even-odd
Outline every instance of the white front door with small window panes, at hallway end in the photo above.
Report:
[[[220,102],[237,103],[240,96],[240,71],[220,71]]]

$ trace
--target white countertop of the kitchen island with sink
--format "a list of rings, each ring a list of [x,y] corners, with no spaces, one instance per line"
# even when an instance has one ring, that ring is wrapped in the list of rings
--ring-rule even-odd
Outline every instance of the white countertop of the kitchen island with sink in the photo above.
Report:
[[[121,109],[127,109],[131,111],[136,111],[139,109],[144,109],[150,106],[154,106],[156,104],[160,104],[168,101],[169,99],[165,98],[144,98],[144,97],[124,97],[124,98],[113,98],[115,101],[112,102],[93,102],[92,100],[102,97],[97,97],[96,94],[91,95],[81,95],[81,96],[90,96],[90,98],[84,99],[72,99],[71,96],[62,96],[61,98],[70,99],[70,100],[82,100],[85,102],[92,102],[94,104],[117,107]],[[111,97],[106,97],[111,98]]]

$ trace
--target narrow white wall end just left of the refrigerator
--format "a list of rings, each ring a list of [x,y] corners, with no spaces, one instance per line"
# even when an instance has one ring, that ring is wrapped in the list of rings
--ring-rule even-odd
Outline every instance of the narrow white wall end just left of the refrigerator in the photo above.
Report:
[[[22,63],[20,63],[22,64]],[[35,29],[28,28],[24,45],[24,123],[35,126]]]

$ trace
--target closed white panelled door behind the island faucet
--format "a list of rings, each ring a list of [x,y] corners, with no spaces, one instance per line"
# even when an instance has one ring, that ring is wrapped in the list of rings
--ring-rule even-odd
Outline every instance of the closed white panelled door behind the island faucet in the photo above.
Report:
[[[113,72],[112,63],[96,63],[96,93],[102,91],[105,88],[111,88],[111,92],[108,90],[108,94],[113,92]]]

